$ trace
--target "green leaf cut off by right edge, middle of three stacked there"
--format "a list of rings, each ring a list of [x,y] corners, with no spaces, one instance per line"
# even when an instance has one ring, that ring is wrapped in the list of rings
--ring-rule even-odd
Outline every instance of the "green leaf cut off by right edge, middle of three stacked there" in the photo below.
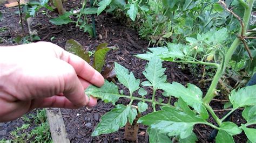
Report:
[[[256,124],[256,105],[246,106],[242,111],[242,117],[244,117],[248,124]]]

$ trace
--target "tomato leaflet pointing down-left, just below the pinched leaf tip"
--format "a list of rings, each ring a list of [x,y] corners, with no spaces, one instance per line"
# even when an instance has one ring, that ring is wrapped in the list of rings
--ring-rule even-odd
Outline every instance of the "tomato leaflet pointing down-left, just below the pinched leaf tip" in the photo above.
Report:
[[[116,132],[120,127],[125,126],[127,123],[127,118],[129,118],[129,121],[132,122],[132,118],[136,117],[136,115],[134,115],[135,112],[131,106],[118,104],[116,108],[102,116],[101,121],[93,131],[92,136]]]

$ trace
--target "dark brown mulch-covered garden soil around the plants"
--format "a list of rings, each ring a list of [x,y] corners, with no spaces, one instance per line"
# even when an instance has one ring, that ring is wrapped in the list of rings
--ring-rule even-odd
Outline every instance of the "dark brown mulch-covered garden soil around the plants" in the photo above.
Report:
[[[66,2],[64,3],[66,10],[71,8],[79,8],[80,5],[78,2]],[[22,33],[21,26],[19,24],[19,16],[15,14],[17,8],[4,8],[0,6],[0,11],[4,13],[4,18],[0,22],[1,29],[0,37],[3,38],[0,46],[5,45],[17,45],[14,42],[19,34]],[[41,40],[51,41],[60,47],[65,47],[65,42],[69,39],[77,40],[87,51],[93,51],[95,48],[107,42],[109,46],[115,47],[106,56],[106,65],[113,65],[114,62],[118,62],[120,65],[132,71],[136,78],[139,78],[140,81],[145,81],[146,78],[142,74],[145,69],[146,61],[136,58],[134,55],[145,53],[147,51],[148,41],[144,41],[139,38],[137,30],[133,30],[121,23],[119,19],[113,18],[113,16],[102,13],[100,16],[96,16],[96,30],[97,30],[97,39],[90,38],[89,34],[84,33],[82,30],[79,30],[75,27],[74,24],[56,26],[52,25],[49,22],[50,17],[56,17],[56,12],[48,11],[47,14],[38,13],[36,17],[32,18],[32,28],[37,30],[37,33]],[[25,34],[29,34],[28,26],[24,24]],[[31,59],[32,60],[32,59]],[[106,66],[105,65],[105,66]],[[183,85],[186,83],[193,83],[199,86],[198,82],[201,80],[200,74],[201,70],[198,69],[198,76],[192,76],[190,70],[187,66],[186,68],[181,68],[181,66],[171,63],[164,62],[163,66],[166,67],[165,74],[168,77],[169,82],[179,82]],[[210,83],[206,83],[202,88],[205,93],[206,87]],[[119,89],[124,90],[124,94],[128,93],[128,90],[125,89],[122,85],[118,84]],[[146,88],[148,94],[146,98],[151,98],[149,93],[152,92],[152,89]],[[138,93],[135,93],[135,96],[138,96]],[[167,102],[167,98],[161,96],[161,91],[158,91],[156,94],[157,98],[164,99],[164,102]],[[216,101],[211,102],[211,106],[217,113],[219,117],[223,117],[226,112],[223,109],[226,98],[217,97]],[[172,99],[172,103],[176,101],[175,98]],[[129,103],[128,99],[121,98],[118,103],[127,104]],[[136,101],[134,102],[136,103]],[[100,135],[99,137],[91,137],[91,133],[94,128],[100,121],[106,112],[110,111],[114,106],[109,103],[104,103],[98,101],[98,104],[94,108],[80,108],[77,110],[62,109],[62,116],[66,126],[66,131],[68,132],[68,138],[71,142],[128,142],[124,140],[124,127],[120,128],[117,132]],[[159,110],[159,107],[158,107]],[[146,115],[151,112],[152,108],[149,106],[149,110],[143,112],[142,115]],[[231,118],[232,121],[240,125],[245,123],[244,120],[241,120],[241,110],[238,110],[234,113]],[[34,113],[32,111],[32,113]],[[213,118],[210,117],[210,121],[214,123]],[[0,140],[11,139],[10,132],[15,129],[17,126],[22,126],[24,121],[22,118],[19,118],[14,121],[9,121],[7,123],[0,123]],[[146,133],[146,126],[139,125],[138,131],[138,140],[137,142],[149,142],[149,135]],[[212,128],[206,125],[196,125],[194,127],[194,133],[197,134],[198,142],[206,142],[207,137],[210,135]],[[24,131],[26,132],[26,131]],[[246,142],[247,138],[244,132],[239,135],[234,136],[235,142]]]

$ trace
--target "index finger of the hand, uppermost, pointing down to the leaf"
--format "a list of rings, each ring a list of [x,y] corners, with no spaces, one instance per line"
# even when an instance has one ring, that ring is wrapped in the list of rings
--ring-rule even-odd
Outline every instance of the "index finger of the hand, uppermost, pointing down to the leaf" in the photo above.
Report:
[[[103,76],[79,56],[62,51],[60,59],[68,62],[75,69],[78,76],[91,84],[98,87],[101,87],[104,84]]]

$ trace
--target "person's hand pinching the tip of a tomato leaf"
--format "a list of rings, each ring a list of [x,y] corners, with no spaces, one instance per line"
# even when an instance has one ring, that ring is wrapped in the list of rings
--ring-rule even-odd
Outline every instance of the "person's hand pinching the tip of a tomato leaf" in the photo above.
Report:
[[[104,78],[87,62],[50,42],[0,47],[0,122],[35,108],[94,106],[84,94]]]

